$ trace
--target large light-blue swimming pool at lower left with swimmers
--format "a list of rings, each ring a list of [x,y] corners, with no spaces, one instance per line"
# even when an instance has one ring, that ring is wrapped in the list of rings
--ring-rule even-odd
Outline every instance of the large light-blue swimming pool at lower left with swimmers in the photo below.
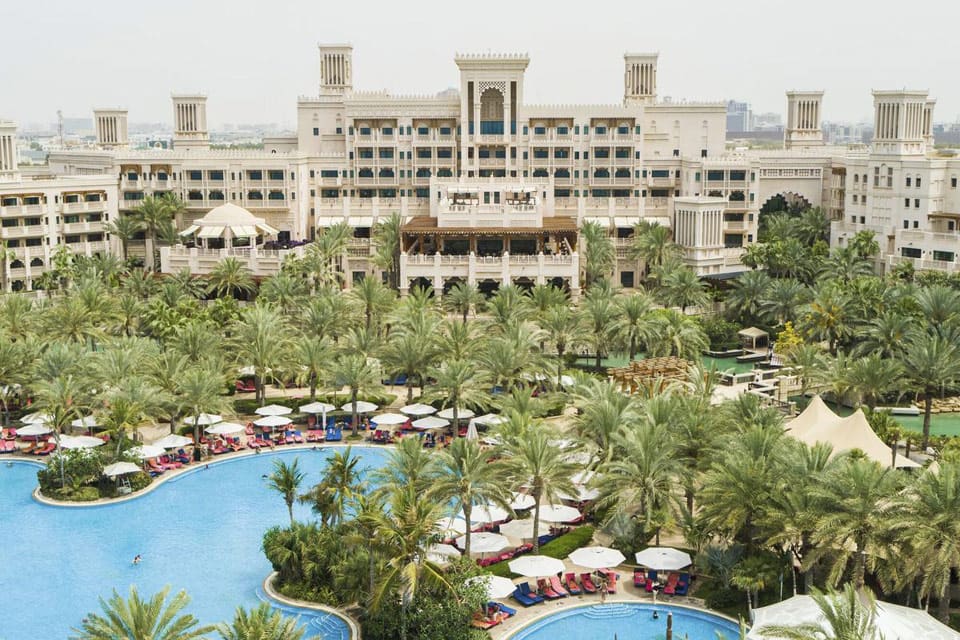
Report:
[[[236,608],[256,606],[270,573],[260,549],[264,531],[289,522],[283,499],[261,477],[278,457],[300,459],[307,483],[335,448],[277,451],[197,467],[124,503],[51,507],[36,502],[37,465],[0,462],[0,640],[65,638],[83,617],[99,611],[98,597],[113,589],[126,596],[165,585],[186,589],[188,611],[202,624],[230,621]],[[354,447],[367,469],[383,465],[386,451]],[[298,520],[314,519],[297,504]],[[143,562],[131,563],[141,554]],[[278,606],[300,615],[308,636],[346,640],[349,629],[326,612]]]

